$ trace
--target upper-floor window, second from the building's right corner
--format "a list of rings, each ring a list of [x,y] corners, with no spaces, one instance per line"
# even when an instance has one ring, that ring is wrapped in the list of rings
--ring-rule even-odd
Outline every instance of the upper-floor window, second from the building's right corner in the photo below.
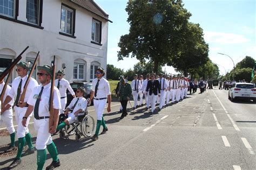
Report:
[[[62,5],[60,29],[67,34],[73,35],[75,33],[75,9]]]

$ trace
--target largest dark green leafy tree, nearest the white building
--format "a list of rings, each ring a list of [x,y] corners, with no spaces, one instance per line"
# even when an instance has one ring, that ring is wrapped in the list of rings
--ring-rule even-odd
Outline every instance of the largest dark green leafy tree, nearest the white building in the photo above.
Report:
[[[179,53],[191,13],[183,8],[181,0],[130,0],[125,10],[130,33],[120,37],[118,60],[148,60],[158,73],[158,66]]]

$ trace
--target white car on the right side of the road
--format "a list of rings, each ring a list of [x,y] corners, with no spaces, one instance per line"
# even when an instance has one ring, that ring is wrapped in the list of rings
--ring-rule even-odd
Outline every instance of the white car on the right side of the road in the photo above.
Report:
[[[234,83],[228,91],[228,98],[233,101],[237,98],[244,98],[256,102],[256,88],[252,83]]]

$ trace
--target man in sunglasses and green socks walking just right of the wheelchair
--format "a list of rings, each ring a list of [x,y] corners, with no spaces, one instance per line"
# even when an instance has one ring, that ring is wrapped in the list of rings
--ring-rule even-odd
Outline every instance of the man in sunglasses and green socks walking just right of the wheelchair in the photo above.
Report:
[[[98,133],[100,126],[103,125],[103,131],[100,134],[104,134],[107,131],[107,127],[103,118],[103,112],[105,109],[106,101],[108,101],[107,112],[111,111],[111,93],[109,82],[104,79],[105,71],[103,68],[96,69],[96,79],[92,81],[92,93],[90,96],[89,103],[93,98],[93,104],[97,113],[97,126],[95,135],[91,138],[92,140],[98,139]]]

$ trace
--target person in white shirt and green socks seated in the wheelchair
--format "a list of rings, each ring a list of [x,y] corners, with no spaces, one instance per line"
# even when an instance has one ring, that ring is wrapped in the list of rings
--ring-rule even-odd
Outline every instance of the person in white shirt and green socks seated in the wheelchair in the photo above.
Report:
[[[63,129],[66,125],[72,124],[75,122],[75,117],[78,116],[80,112],[86,110],[87,100],[84,98],[86,90],[83,87],[79,87],[76,91],[77,98],[73,98],[69,106],[66,108],[64,115],[67,116],[62,123],[57,126],[57,131]],[[69,113],[69,111],[71,111]],[[61,115],[60,115],[61,116]]]

